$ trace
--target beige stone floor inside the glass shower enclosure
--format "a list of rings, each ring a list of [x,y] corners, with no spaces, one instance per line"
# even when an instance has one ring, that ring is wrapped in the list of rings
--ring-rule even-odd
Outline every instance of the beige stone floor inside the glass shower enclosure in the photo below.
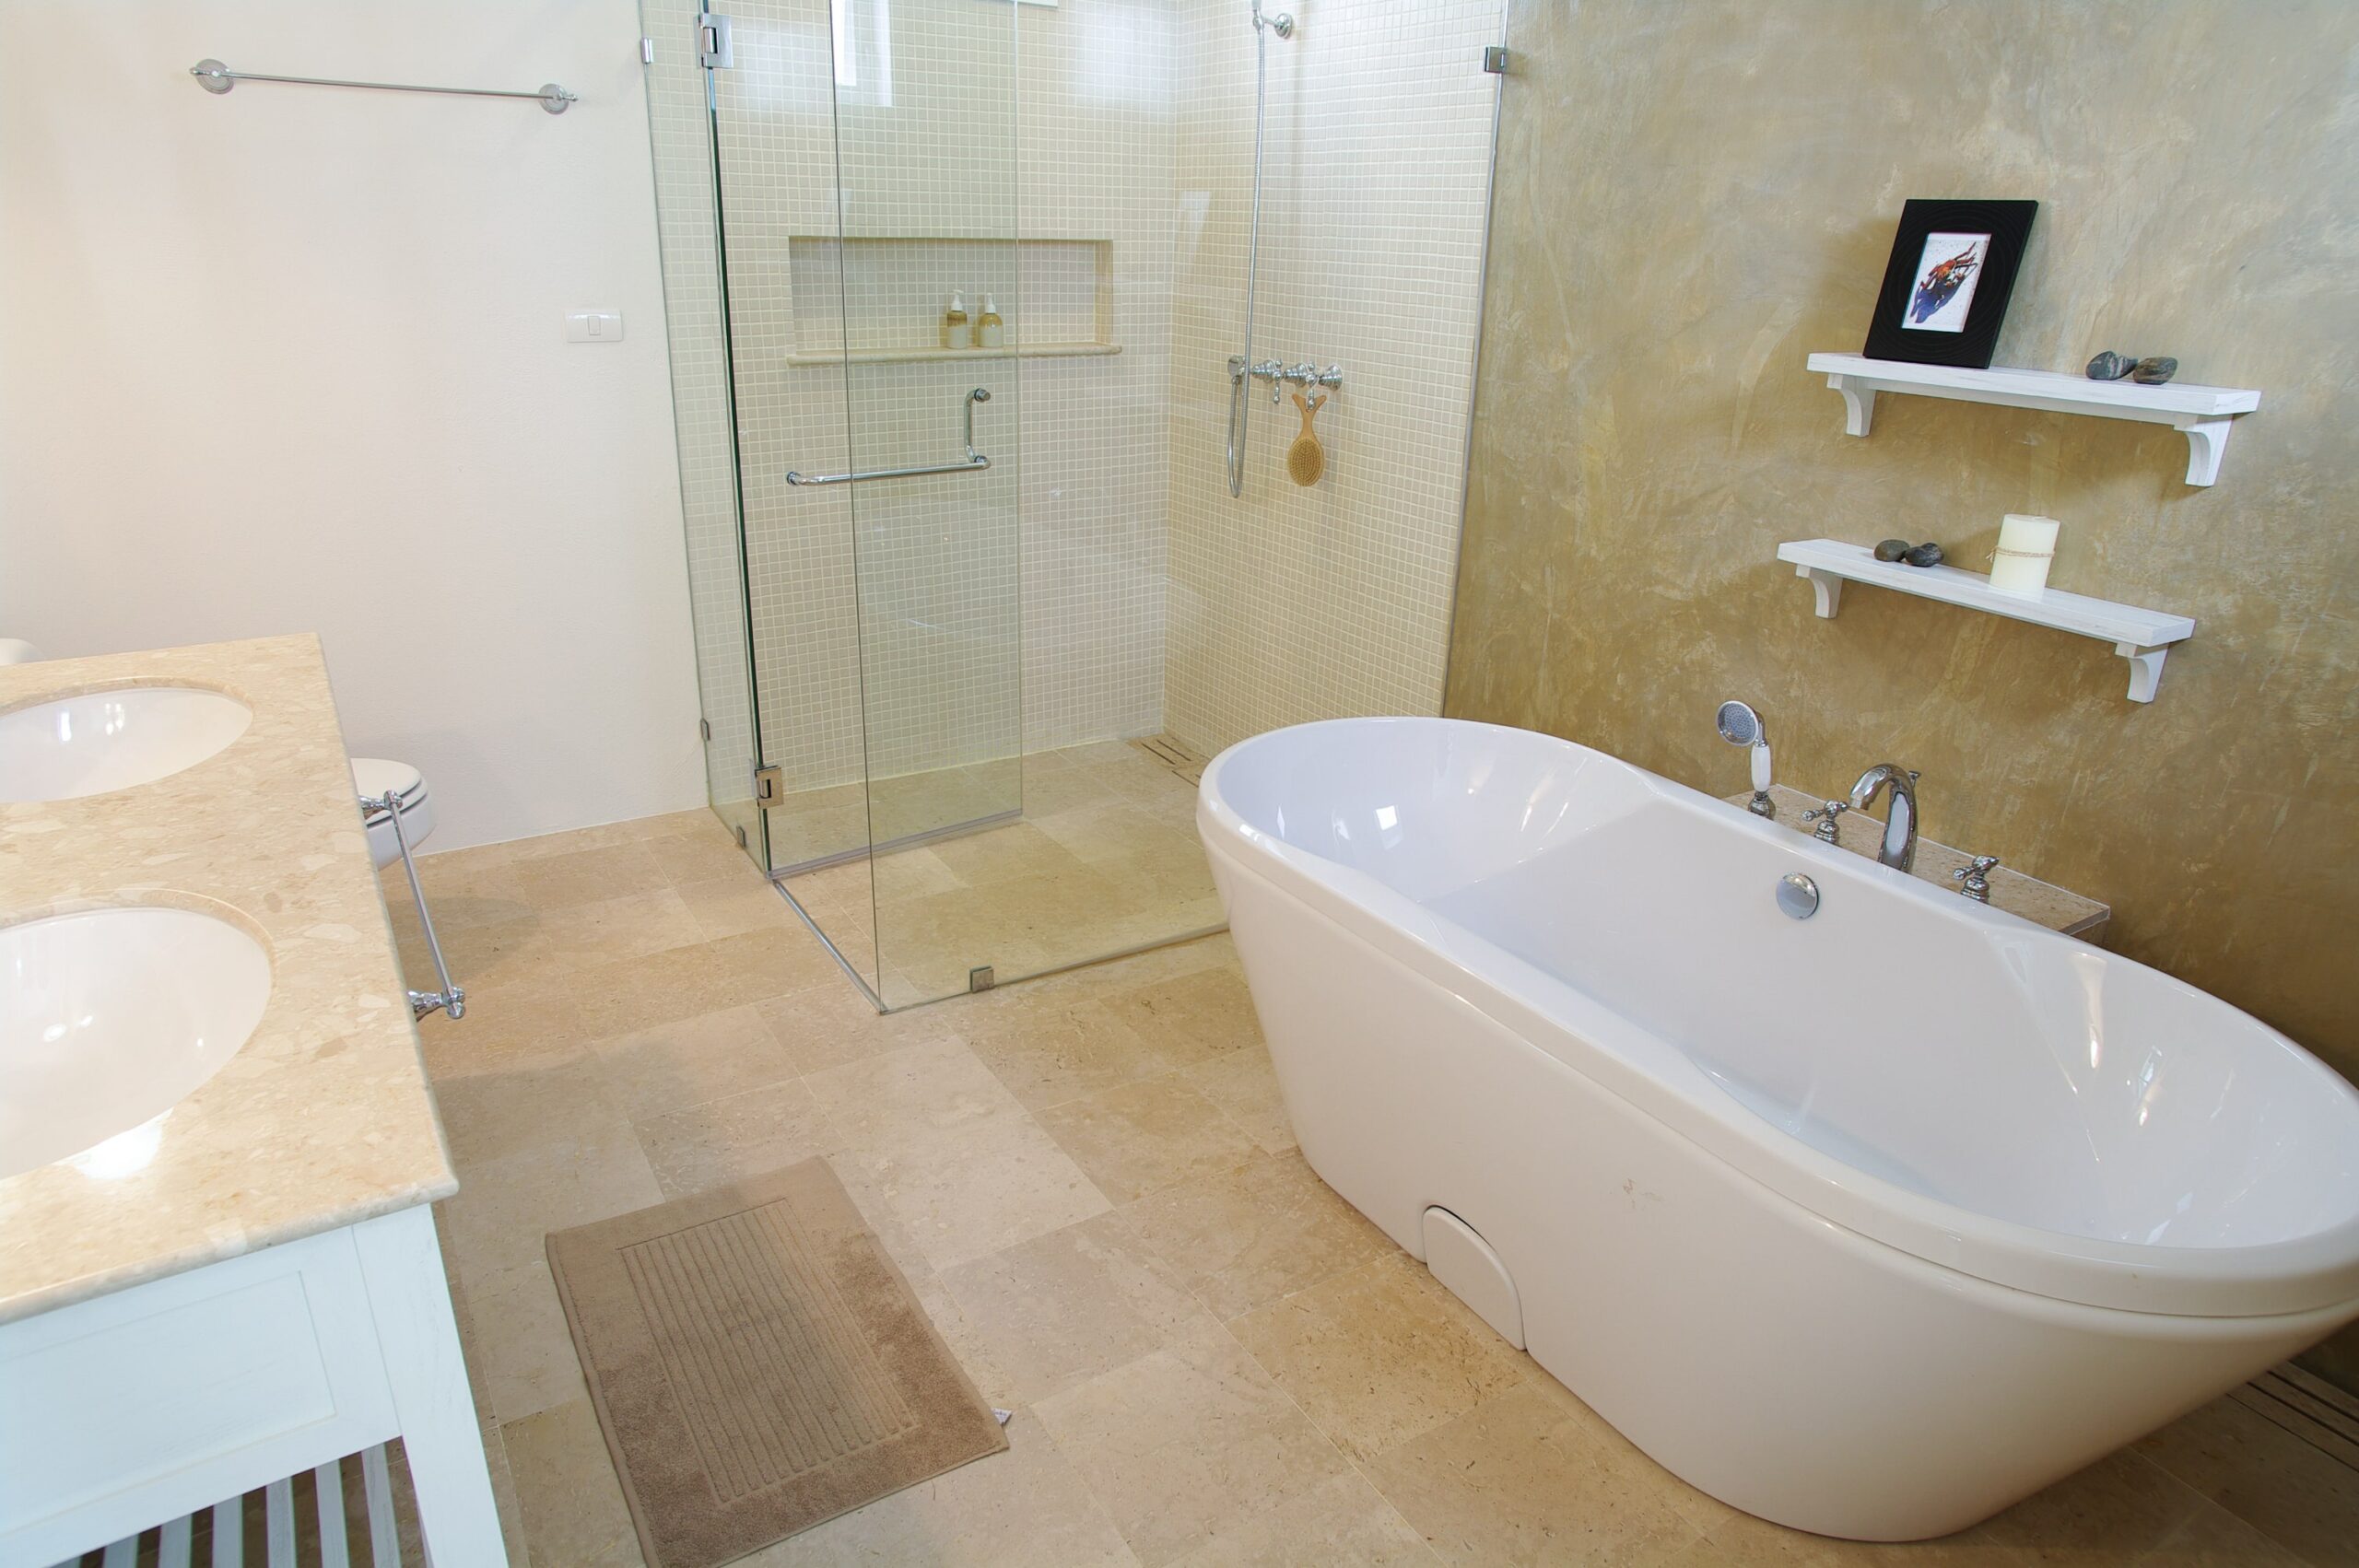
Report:
[[[1021,809],[979,832],[788,877],[894,1007],[955,995],[991,964],[1019,979],[1220,924],[1196,844],[1196,788],[1135,743],[814,790],[769,813],[774,865],[795,846],[866,844]]]

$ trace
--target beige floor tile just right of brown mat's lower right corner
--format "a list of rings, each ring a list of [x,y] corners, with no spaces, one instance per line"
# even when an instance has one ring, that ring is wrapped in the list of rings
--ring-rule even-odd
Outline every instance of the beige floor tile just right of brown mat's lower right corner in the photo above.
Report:
[[[1349,1474],[1227,1335],[1142,1356],[1038,1412],[1146,1568]]]

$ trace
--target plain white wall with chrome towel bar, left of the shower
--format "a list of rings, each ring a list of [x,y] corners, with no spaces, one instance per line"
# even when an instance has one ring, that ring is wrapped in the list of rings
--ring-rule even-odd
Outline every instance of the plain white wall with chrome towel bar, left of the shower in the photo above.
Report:
[[[0,2],[0,634],[316,630],[434,849],[701,804],[637,38],[632,0]],[[201,57],[580,101],[210,97]]]

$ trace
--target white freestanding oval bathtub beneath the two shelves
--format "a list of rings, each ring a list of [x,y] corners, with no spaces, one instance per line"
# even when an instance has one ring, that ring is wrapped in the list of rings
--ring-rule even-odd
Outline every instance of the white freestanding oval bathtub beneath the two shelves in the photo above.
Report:
[[[2359,1094],[2154,969],[1486,724],[1198,825],[1312,1167],[1750,1514],[1958,1530],[2359,1316]]]

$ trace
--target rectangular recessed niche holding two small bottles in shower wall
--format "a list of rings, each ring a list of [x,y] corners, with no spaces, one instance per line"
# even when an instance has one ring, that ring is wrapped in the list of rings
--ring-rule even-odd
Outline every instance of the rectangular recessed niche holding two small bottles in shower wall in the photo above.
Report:
[[[793,365],[840,365],[847,342],[854,363],[1121,354],[1113,241],[795,233],[788,266]],[[941,314],[953,292],[967,297],[970,318],[991,295],[1007,344],[944,349]]]

